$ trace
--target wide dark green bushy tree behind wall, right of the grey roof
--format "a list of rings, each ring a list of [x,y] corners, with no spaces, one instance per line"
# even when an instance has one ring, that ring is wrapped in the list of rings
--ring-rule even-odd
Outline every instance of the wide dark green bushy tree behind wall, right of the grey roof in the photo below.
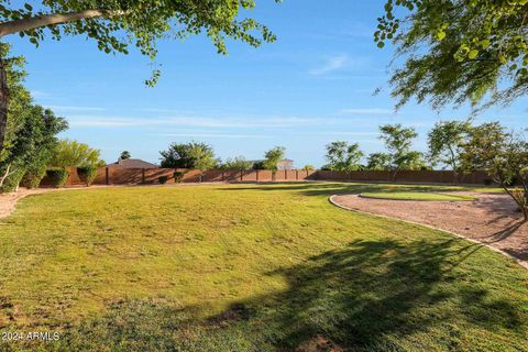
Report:
[[[162,167],[201,169],[204,165],[210,165],[207,167],[210,168],[217,164],[212,146],[206,143],[173,143],[160,154]]]

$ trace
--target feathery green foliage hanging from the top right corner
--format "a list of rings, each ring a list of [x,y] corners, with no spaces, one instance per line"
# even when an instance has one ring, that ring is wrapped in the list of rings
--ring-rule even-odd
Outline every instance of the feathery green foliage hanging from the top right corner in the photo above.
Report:
[[[509,103],[528,91],[527,0],[387,0],[374,40],[405,64],[392,76],[398,106]]]

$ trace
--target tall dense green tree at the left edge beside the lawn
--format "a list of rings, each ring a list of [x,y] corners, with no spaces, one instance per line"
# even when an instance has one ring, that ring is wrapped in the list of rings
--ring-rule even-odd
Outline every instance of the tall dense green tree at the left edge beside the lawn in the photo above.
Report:
[[[0,51],[8,53],[9,46],[0,44]],[[0,152],[2,191],[16,189],[22,179],[24,186],[37,187],[57,144],[56,134],[67,129],[64,119],[33,103],[30,92],[23,86],[23,58],[13,57],[7,63],[11,103],[4,148]]]

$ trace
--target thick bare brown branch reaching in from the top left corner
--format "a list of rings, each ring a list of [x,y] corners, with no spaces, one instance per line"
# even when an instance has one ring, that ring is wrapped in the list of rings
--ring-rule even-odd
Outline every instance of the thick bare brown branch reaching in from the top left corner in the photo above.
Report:
[[[84,19],[94,19],[102,18],[112,14],[120,14],[120,12],[109,12],[106,10],[84,10],[78,12],[67,12],[67,13],[51,13],[43,14],[33,18],[20,19],[9,22],[0,23],[0,37],[28,31],[34,30],[47,25],[62,24],[67,22],[75,22]]]

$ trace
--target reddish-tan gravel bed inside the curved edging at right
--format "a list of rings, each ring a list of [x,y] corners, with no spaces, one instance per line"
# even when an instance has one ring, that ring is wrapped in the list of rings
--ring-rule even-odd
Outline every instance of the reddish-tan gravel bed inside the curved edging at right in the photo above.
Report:
[[[424,223],[461,234],[498,249],[528,267],[528,223],[507,195],[453,193],[475,197],[474,201],[413,201],[334,196],[332,201],[359,210]]]

